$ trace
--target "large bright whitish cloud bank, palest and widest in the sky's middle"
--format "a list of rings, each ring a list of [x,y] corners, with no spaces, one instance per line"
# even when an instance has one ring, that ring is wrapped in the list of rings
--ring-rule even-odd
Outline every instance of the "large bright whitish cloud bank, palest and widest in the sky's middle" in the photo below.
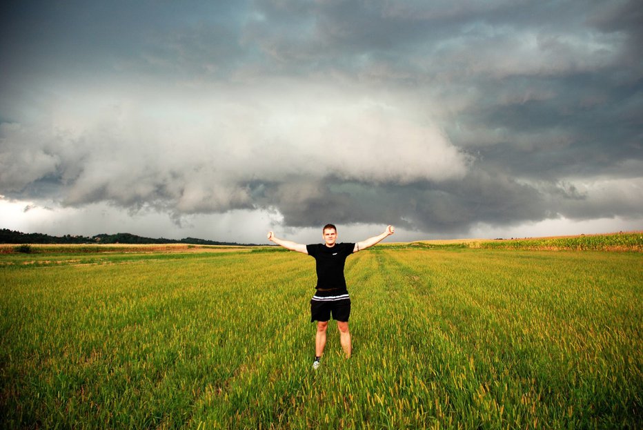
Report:
[[[156,104],[152,115],[132,101],[82,114],[61,109],[61,117],[75,119],[68,125],[75,130],[3,126],[3,186],[27,195],[28,184],[47,180],[59,186],[68,205],[107,200],[208,213],[255,207],[252,183],[284,184],[303,175],[320,183],[328,177],[376,184],[441,182],[464,176],[470,163],[435,126],[416,124],[395,106],[317,99],[311,117],[290,106],[308,103],[307,96],[265,108],[253,95],[237,96],[250,97],[252,107],[230,106],[226,95],[192,108],[192,99],[175,100],[184,114],[209,110],[206,120],[187,115],[166,124],[176,108]],[[34,163],[38,157],[43,161]],[[288,206],[284,193],[277,197]],[[304,202],[315,206],[312,197]]]

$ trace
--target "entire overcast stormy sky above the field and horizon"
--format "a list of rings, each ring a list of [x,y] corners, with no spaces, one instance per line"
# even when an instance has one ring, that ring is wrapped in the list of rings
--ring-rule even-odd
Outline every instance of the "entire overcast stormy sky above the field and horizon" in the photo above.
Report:
[[[642,1],[26,0],[0,21],[0,228],[643,229]]]

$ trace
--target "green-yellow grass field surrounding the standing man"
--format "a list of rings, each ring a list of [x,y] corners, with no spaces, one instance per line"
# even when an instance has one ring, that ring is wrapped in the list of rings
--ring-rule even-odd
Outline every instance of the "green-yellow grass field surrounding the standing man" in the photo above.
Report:
[[[639,252],[376,246],[313,371],[312,258],[77,249],[0,255],[3,428],[643,422]]]

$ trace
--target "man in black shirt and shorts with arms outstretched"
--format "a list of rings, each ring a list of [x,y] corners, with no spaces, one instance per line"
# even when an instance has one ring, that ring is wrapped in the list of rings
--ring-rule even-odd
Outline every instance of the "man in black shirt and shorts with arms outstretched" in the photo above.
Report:
[[[337,228],[333,224],[326,224],[322,229],[324,244],[303,245],[289,240],[282,240],[275,236],[272,231],[268,232],[268,240],[283,246],[290,251],[308,254],[315,258],[317,271],[317,286],[315,295],[310,300],[310,322],[317,321],[317,333],[315,334],[315,361],[313,369],[319,367],[319,360],[324,353],[326,346],[326,328],[330,316],[337,320],[339,329],[339,342],[350,358],[351,343],[350,332],[348,331],[348,317],[350,316],[350,297],[346,289],[344,278],[344,263],[348,255],[364,251],[384,238],[395,233],[393,226],[386,227],[381,235],[370,237],[362,242],[337,243]]]

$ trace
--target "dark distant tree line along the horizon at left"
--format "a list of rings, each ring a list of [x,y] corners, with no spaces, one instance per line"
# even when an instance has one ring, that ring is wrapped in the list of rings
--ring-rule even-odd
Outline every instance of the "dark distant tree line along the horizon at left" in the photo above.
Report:
[[[50,236],[43,233],[21,233],[8,228],[0,229],[0,244],[192,244],[192,245],[250,245],[236,242],[217,242],[215,240],[196,239],[152,239],[131,233],[116,233],[115,235],[100,234],[92,237],[80,235]]]

